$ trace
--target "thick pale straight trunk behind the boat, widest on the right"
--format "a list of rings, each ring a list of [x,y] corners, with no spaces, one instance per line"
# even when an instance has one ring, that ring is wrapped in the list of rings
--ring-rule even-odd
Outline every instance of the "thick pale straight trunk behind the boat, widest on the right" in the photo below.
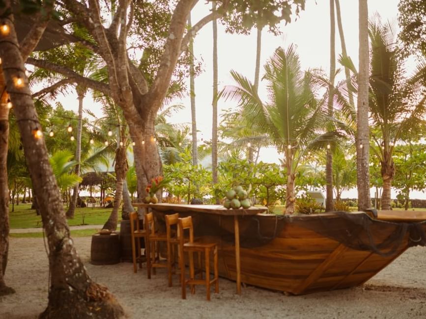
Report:
[[[358,210],[371,207],[369,176],[369,30],[367,0],[359,0],[359,72],[357,102]]]

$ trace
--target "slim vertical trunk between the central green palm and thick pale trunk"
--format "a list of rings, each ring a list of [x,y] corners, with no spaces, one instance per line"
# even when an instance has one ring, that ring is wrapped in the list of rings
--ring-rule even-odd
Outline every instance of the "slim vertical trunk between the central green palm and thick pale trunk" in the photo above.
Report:
[[[333,99],[334,99],[334,78],[336,72],[336,30],[334,21],[334,0],[330,0],[330,85],[328,86],[328,115],[333,116]],[[326,165],[325,165],[325,180],[326,180],[326,201],[325,211],[334,211],[333,205],[333,154],[331,149],[327,149]]]

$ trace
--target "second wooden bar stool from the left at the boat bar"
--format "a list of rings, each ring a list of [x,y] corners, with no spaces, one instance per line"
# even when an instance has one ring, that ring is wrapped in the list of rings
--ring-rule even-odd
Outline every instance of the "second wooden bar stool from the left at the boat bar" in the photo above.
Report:
[[[146,241],[148,244],[148,252],[146,253],[146,260],[149,261],[146,263],[146,268],[148,272],[148,279],[151,279],[151,269],[152,273],[155,275],[156,268],[167,268],[167,262],[160,261],[160,246],[159,243],[164,241],[167,243],[167,235],[161,234],[155,231],[154,223],[154,214],[146,213],[145,214],[145,230],[147,232]]]

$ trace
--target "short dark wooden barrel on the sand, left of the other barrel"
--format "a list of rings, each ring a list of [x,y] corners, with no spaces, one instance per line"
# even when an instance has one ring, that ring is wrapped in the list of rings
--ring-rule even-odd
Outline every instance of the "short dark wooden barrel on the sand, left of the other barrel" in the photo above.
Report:
[[[120,262],[120,239],[118,234],[95,234],[92,236],[90,263],[93,265],[113,265]]]

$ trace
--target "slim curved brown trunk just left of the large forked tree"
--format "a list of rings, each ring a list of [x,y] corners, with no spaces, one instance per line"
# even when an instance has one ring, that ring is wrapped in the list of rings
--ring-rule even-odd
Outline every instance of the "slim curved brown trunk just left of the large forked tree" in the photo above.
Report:
[[[127,148],[120,146],[115,151],[115,195],[114,207],[110,217],[102,229],[116,230],[118,222],[118,211],[121,206],[121,199],[123,197],[123,183],[126,178],[126,172],[129,166],[127,165],[126,157]]]

